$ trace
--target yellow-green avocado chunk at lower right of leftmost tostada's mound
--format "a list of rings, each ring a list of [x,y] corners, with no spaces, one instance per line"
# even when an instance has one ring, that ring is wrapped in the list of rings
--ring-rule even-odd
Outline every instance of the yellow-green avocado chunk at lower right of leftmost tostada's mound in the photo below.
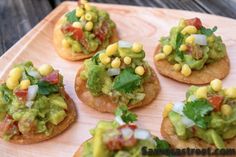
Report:
[[[59,111],[52,111],[49,115],[49,122],[51,122],[54,125],[59,124],[62,122],[66,117],[66,112],[64,110]]]

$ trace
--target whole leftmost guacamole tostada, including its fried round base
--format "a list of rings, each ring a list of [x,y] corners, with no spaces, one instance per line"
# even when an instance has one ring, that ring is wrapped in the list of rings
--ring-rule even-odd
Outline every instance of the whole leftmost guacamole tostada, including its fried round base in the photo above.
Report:
[[[76,118],[63,77],[51,65],[16,65],[0,85],[0,137],[18,144],[37,143],[67,129]]]

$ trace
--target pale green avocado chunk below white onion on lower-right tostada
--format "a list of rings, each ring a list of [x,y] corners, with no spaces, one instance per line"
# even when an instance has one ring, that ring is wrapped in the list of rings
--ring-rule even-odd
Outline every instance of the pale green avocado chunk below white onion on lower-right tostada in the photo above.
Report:
[[[187,134],[187,129],[181,121],[181,115],[179,115],[178,113],[176,113],[174,111],[171,111],[168,116],[169,116],[169,119],[170,119],[171,123],[174,125],[176,134],[180,138],[186,139],[187,135],[188,135]]]

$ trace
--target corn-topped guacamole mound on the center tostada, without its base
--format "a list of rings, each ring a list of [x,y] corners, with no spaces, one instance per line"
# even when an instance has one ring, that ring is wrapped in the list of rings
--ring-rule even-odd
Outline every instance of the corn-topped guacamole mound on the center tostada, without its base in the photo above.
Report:
[[[151,77],[144,57],[142,44],[119,41],[86,60],[80,77],[94,96],[108,95],[118,105],[136,104],[144,99],[143,85]]]

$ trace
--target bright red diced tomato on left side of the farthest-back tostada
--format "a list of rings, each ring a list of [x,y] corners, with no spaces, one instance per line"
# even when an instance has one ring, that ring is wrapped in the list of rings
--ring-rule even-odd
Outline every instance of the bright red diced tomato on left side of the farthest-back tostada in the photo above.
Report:
[[[75,40],[79,41],[83,37],[83,30],[81,28],[75,28],[71,24],[62,27],[63,33],[72,33]]]

